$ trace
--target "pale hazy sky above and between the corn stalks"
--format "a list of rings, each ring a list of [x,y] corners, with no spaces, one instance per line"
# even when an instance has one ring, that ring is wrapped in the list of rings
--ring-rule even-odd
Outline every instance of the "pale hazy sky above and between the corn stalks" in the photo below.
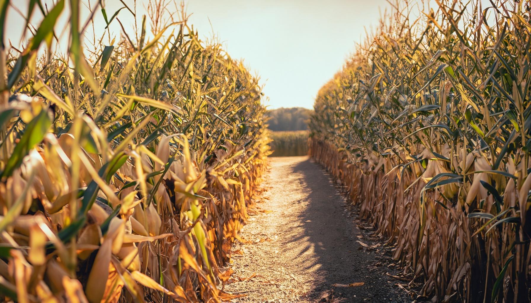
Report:
[[[12,1],[16,9],[27,12],[28,2]],[[53,0],[43,1],[51,9]],[[88,18],[89,1],[83,1],[81,20]],[[95,5],[92,0],[90,7]],[[132,7],[132,0],[125,3]],[[243,59],[264,85],[264,104],[279,107],[313,108],[317,92],[341,69],[354,50],[355,43],[372,32],[389,4],[386,0],[185,0],[186,12],[204,39],[215,36],[234,59]],[[117,0],[104,1],[107,15],[123,5]],[[137,0],[137,15],[145,12],[147,0]],[[133,31],[134,18],[123,9],[119,12],[126,30]],[[35,12],[31,24],[38,27],[42,15]],[[105,21],[98,8],[94,15],[94,31],[101,33]],[[68,8],[56,24],[56,34],[67,44]],[[83,21],[84,23],[84,21]],[[11,8],[7,24],[12,24],[7,38],[20,44],[24,19]],[[92,24],[90,28],[92,27]],[[57,30],[59,29],[59,30]],[[64,29],[64,30],[61,30]],[[118,39],[121,28],[110,26],[110,37]],[[90,29],[91,30],[91,29]],[[90,40],[91,33],[85,34]]]

